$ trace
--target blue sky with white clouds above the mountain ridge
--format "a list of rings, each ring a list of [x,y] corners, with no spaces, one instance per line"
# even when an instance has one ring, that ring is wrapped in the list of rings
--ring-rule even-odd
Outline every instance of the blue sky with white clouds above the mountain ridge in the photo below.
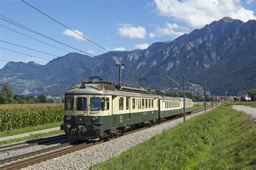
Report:
[[[153,42],[169,41],[178,36],[200,29],[213,20],[225,16],[241,19],[256,19],[256,3],[253,0],[155,0],[155,1],[77,1],[77,0],[25,0],[39,10],[57,19],[60,23],[69,26],[72,30],[97,42],[110,50],[132,50],[146,48]],[[8,17],[37,32],[45,34],[70,46],[82,49],[85,52],[98,55],[105,53],[104,49],[91,42],[74,36],[65,27],[53,22],[41,13],[32,9],[21,0],[1,0],[1,15]],[[0,17],[3,18],[3,17]],[[28,36],[63,48],[70,52],[77,52],[56,42],[42,38],[15,25],[0,20],[1,25]],[[17,45],[37,49],[57,56],[67,52],[50,47],[24,37],[0,26],[0,39]],[[12,49],[52,60],[56,56],[33,52],[29,49],[0,42],[3,48]],[[48,61],[31,58],[22,54],[0,49],[0,59],[8,61],[36,61],[44,65]],[[0,68],[6,62],[0,61]]]

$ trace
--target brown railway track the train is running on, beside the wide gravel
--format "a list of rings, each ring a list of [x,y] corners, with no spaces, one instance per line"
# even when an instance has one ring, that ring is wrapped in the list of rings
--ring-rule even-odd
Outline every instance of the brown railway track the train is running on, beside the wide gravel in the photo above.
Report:
[[[215,106],[216,106],[216,103],[214,103],[213,107],[215,107]],[[212,105],[209,105],[208,107],[206,107],[206,109],[210,109],[210,108],[212,108]],[[204,109],[205,108],[194,109],[192,114],[203,111]],[[163,124],[166,122],[174,121],[174,119],[177,119],[180,117],[181,116],[173,118],[173,119],[167,119],[163,122],[153,124],[152,126],[156,126],[156,125]],[[123,133],[123,136],[140,131],[140,130],[144,130],[147,128],[150,128],[150,127],[144,126],[143,128],[138,128],[138,129],[134,129],[131,131],[127,131],[127,132]],[[83,148],[90,147],[90,146],[93,146],[93,145],[96,145],[96,144],[102,143],[102,142],[103,141],[96,141],[96,142],[89,141],[89,142],[83,143],[83,142],[79,142],[79,141],[71,141],[70,143],[53,146],[50,148],[46,148],[43,150],[39,150],[39,151],[35,151],[35,152],[23,154],[23,155],[17,155],[16,157],[11,157],[8,159],[0,160],[0,169],[23,168],[23,167],[30,166],[33,164],[37,164],[38,162],[49,160],[51,158],[56,158],[56,157],[59,157],[61,155],[68,154],[71,152],[75,152],[75,151],[81,150]]]

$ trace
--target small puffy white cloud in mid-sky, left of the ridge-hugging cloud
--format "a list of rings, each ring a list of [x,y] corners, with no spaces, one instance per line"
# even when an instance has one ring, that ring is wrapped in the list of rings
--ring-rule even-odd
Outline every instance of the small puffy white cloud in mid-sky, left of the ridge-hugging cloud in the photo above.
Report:
[[[147,34],[145,27],[142,26],[123,26],[120,27],[117,31],[121,37],[129,37],[130,39],[145,39]]]

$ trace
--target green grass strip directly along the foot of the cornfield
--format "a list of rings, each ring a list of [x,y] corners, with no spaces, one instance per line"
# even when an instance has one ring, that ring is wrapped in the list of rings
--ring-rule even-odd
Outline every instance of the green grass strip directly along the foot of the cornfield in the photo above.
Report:
[[[0,132],[0,137],[2,138],[2,137],[6,137],[6,136],[12,136],[15,134],[33,132],[33,131],[44,130],[44,129],[49,129],[49,128],[56,128],[56,127],[59,127],[61,124],[62,124],[62,122],[48,123],[45,125],[29,126],[29,127],[22,128],[22,129],[3,131],[3,132]]]

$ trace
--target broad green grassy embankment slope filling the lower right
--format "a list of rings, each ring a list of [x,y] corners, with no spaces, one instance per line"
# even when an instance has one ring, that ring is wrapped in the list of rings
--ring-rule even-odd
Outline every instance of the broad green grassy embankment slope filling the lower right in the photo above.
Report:
[[[222,104],[91,169],[255,169],[256,125]]]

